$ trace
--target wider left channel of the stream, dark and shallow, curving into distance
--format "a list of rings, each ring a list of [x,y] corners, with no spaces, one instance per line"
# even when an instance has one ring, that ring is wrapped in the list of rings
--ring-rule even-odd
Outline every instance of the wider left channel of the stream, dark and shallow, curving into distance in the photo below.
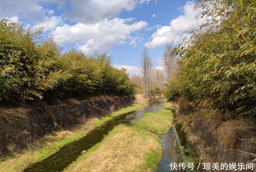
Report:
[[[109,131],[111,131],[116,125],[132,125],[131,121],[142,118],[144,113],[155,112],[159,109],[166,109],[163,107],[164,100],[164,98],[159,98],[143,109],[119,115],[109,121],[106,121],[100,127],[97,127],[96,129],[88,132],[88,134],[83,138],[63,146],[58,152],[38,163],[35,163],[34,165],[31,165],[29,168],[25,169],[24,172],[62,171],[63,169],[68,167],[73,161],[75,161],[76,158],[81,155],[82,151],[88,150],[96,143],[100,142],[104,138],[104,136],[108,135]]]

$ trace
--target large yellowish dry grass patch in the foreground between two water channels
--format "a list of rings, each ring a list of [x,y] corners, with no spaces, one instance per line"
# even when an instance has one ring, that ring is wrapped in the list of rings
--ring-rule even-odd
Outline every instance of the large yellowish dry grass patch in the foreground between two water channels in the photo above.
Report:
[[[155,135],[120,125],[65,172],[151,172],[157,169],[161,155],[161,141]]]

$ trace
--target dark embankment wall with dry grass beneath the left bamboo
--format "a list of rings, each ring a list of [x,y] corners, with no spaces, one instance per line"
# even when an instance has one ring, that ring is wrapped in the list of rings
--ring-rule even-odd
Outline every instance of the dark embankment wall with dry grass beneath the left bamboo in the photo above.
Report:
[[[1,108],[0,156],[53,131],[76,126],[90,116],[126,107],[133,101],[134,96],[98,96],[82,101],[70,99],[53,106],[40,101],[19,108]]]

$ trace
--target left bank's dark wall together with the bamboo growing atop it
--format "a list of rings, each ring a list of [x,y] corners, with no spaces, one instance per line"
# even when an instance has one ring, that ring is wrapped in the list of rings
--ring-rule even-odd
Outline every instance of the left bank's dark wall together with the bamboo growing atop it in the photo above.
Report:
[[[0,20],[0,156],[134,100],[135,84],[106,53],[61,54],[42,32]]]

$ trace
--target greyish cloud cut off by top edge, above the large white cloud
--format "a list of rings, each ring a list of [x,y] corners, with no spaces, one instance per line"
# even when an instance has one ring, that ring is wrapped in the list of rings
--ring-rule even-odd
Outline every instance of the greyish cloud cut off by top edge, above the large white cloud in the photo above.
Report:
[[[140,4],[147,4],[150,0],[72,0],[71,11],[66,18],[83,23],[96,23],[104,19],[116,17],[122,10],[131,11]]]

